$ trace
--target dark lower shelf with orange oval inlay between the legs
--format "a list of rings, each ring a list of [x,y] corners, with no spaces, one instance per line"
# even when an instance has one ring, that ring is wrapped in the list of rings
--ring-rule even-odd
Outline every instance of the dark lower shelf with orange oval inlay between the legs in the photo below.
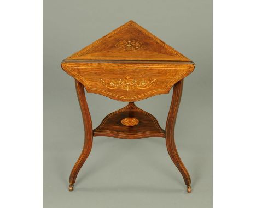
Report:
[[[124,108],[108,114],[94,129],[94,136],[108,136],[120,139],[165,137],[165,131],[156,118],[130,102]]]

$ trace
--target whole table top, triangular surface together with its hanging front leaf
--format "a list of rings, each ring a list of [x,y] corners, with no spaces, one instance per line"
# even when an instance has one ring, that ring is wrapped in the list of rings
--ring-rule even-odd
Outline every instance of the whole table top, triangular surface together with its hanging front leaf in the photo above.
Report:
[[[61,66],[88,93],[127,102],[166,94],[195,68],[133,21],[69,56]]]

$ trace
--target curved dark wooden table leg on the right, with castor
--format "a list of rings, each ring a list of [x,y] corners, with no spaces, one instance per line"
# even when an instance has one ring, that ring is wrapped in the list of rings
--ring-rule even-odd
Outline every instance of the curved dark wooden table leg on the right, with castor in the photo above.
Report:
[[[168,113],[168,118],[166,122],[166,146],[173,163],[176,165],[179,172],[181,172],[183,176],[185,185],[187,185],[188,193],[190,193],[191,192],[190,176],[189,176],[188,170],[185,168],[181,158],[178,155],[175,141],[174,141],[174,127],[175,127],[175,121],[178,113],[179,102],[181,101],[182,88],[183,88],[183,79],[177,82],[176,84],[174,84],[174,87],[173,87],[172,102],[171,102],[171,107],[170,107],[170,111]]]

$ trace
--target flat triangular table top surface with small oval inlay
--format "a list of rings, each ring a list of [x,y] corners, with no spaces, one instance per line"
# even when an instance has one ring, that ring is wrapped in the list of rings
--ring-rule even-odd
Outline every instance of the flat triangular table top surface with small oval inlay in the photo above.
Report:
[[[191,62],[132,20],[65,59],[72,60]]]

